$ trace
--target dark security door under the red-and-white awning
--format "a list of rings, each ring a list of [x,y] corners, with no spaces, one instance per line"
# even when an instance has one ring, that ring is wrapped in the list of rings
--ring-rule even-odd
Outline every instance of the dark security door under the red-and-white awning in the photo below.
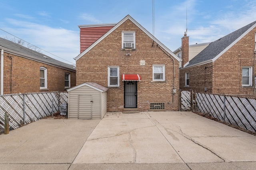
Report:
[[[124,107],[137,108],[137,82],[124,82]]]

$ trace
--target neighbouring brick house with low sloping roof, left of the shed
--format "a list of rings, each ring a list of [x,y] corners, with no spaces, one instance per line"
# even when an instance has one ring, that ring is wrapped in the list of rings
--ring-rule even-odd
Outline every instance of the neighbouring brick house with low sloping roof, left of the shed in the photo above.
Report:
[[[64,91],[76,85],[76,68],[0,38],[2,94]]]

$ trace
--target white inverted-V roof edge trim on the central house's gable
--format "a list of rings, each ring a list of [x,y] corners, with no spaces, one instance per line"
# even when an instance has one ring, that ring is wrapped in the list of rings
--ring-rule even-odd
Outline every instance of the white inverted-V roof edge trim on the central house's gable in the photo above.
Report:
[[[118,28],[122,23],[124,23],[126,20],[132,21],[137,27],[139,27],[146,35],[148,35],[151,39],[153,39],[160,47],[162,47],[164,50],[166,50],[172,57],[174,57],[176,60],[180,61],[179,57],[177,57],[170,49],[168,49],[165,45],[163,45],[158,39],[156,39],[150,32],[148,32],[144,27],[142,27],[137,21],[135,21],[130,15],[127,15],[124,19],[122,19],[120,22],[118,22],[112,29],[110,29],[107,33],[102,35],[98,40],[96,40],[90,47],[88,47],[86,50],[84,50],[82,53],[80,53],[76,58],[74,58],[76,61],[80,59],[83,55],[85,55],[88,51],[90,51],[95,45],[100,43],[104,38],[106,38],[110,33],[112,33],[116,28]]]

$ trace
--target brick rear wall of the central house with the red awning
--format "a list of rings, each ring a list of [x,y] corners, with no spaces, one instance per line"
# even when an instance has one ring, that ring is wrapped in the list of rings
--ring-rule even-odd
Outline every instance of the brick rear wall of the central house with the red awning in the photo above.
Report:
[[[136,32],[136,50],[122,50],[122,31]],[[96,82],[108,87],[108,66],[119,66],[120,87],[108,87],[107,110],[124,108],[124,82],[122,74],[140,74],[138,82],[138,109],[148,110],[150,103],[165,103],[166,110],[178,110],[178,92],[172,98],[174,63],[142,30],[130,20],[125,21],[88,53],[76,61],[76,85]],[[126,56],[130,53],[131,56]],[[140,61],[145,66],[140,66]],[[175,88],[179,89],[179,62],[175,61]],[[165,64],[165,82],[152,82],[152,65]],[[173,102],[172,102],[173,101]]]

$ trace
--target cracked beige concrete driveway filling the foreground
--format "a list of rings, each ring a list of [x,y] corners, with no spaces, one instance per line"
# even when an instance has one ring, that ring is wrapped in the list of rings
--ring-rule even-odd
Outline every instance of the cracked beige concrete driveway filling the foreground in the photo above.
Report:
[[[255,169],[256,136],[191,112],[41,119],[0,135],[0,169]]]

